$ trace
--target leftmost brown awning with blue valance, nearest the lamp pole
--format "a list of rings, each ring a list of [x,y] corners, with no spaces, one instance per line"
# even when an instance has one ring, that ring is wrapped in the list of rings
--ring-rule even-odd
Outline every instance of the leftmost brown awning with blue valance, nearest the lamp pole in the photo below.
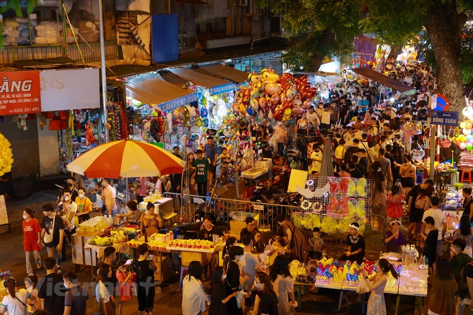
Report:
[[[127,96],[167,112],[197,100],[195,91],[178,88],[157,73],[139,75],[126,82],[125,86]]]

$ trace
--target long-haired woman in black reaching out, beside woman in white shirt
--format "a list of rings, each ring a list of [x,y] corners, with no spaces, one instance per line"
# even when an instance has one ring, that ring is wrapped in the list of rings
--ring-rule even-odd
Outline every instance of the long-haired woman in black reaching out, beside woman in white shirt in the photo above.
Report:
[[[210,307],[208,308],[208,315],[227,315],[227,303],[231,298],[238,295],[238,292],[233,292],[230,295],[225,294],[224,282],[227,275],[224,274],[223,267],[216,266],[212,271]]]

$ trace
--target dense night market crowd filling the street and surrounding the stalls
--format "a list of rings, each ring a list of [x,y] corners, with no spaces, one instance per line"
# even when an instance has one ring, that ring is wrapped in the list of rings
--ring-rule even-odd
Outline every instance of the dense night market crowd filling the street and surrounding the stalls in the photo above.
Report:
[[[314,106],[300,118],[292,121],[241,123],[234,136],[217,134],[207,137],[202,149],[187,154],[183,177],[178,175],[159,178],[141,178],[137,202],[158,189],[206,195],[217,181],[224,185],[230,181],[229,168],[238,165],[244,151],[238,139],[251,136],[252,150],[259,157],[272,158],[277,165],[287,164],[292,169],[317,176],[321,171],[324,151],[331,152],[335,174],[339,177],[367,178],[372,180],[372,213],[384,218],[373,219],[373,230],[387,233],[383,238],[386,252],[399,252],[402,245],[414,244],[427,257],[430,269],[429,313],[431,315],[463,314],[473,308],[473,199],[472,189],[464,188],[464,205],[458,229],[445,239],[446,222],[439,209],[439,198],[434,195],[434,182],[425,180],[416,184],[419,165],[416,158],[423,156],[423,133],[427,120],[428,94],[436,90],[432,70],[422,64],[402,67],[388,60],[383,71],[389,76],[411,85],[416,95],[403,96],[389,88],[377,86],[369,80],[344,80],[342,83],[321,86]],[[382,103],[382,106],[380,105]],[[413,125],[417,127],[413,127]],[[327,147],[327,146],[330,146]],[[173,154],[182,158],[179,147]],[[218,167],[217,167],[218,165]],[[217,176],[218,174],[218,176]],[[68,189],[62,195],[61,215],[57,206],[42,207],[43,218],[38,222],[32,208],[23,213],[24,250],[27,277],[23,284],[13,278],[5,281],[7,295],[0,305],[0,313],[9,315],[83,315],[94,304],[99,313],[126,314],[125,305],[136,295],[138,314],[152,314],[155,300],[154,274],[159,272],[157,258],[141,244],[134,260],[117,260],[114,247],[106,247],[101,262],[95,267],[93,297],[89,299],[87,285],[80,285],[77,272],[63,272],[65,237],[70,241],[74,234],[74,218],[87,220],[92,214],[92,203],[85,189],[72,174]],[[116,189],[109,180],[98,183],[104,204],[104,214],[118,215]],[[135,201],[127,203],[127,213],[140,221],[141,230],[163,227],[154,206],[143,212]],[[403,217],[409,225],[406,234],[400,230]],[[294,281],[289,271],[293,259],[302,262],[321,259],[324,255],[323,231],[314,228],[308,242],[303,233],[287,219],[275,217],[279,229],[274,240],[263,242],[261,233],[251,217],[245,221],[240,238],[226,239],[223,264],[212,260],[210,289],[204,291],[203,278],[207,276],[199,261],[192,261],[188,274],[182,280],[182,314],[203,314],[208,306],[209,315],[289,315],[295,312],[298,302],[294,295]],[[210,218],[202,224],[201,239],[212,240],[222,236]],[[365,256],[365,240],[357,222],[349,224],[346,250],[339,260],[361,263]],[[443,243],[449,243],[448,258],[442,252]],[[241,245],[237,245],[240,243]],[[48,257],[41,260],[39,252],[46,247]],[[266,266],[266,257],[277,251],[274,263]],[[33,256],[33,259],[32,259]],[[47,275],[38,279],[33,273],[44,266]],[[386,259],[377,261],[378,272],[363,277],[372,294],[368,301],[368,315],[386,314],[383,290],[387,274],[399,277]],[[133,272],[131,272],[133,270]],[[205,271],[204,271],[205,270]],[[52,284],[52,285],[51,285]],[[54,293],[54,294],[53,294]],[[91,302],[94,300],[94,302]],[[97,307],[95,307],[97,305]]]

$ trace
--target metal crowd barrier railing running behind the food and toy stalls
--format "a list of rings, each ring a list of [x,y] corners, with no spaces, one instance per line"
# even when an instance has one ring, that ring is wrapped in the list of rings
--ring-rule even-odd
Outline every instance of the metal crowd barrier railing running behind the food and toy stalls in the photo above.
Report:
[[[199,211],[211,212],[220,221],[227,224],[230,224],[232,216],[237,215],[238,212],[257,213],[259,214],[259,226],[266,226],[273,232],[276,231],[278,226],[275,221],[276,214],[283,213],[287,218],[292,218],[293,212],[301,212],[301,209],[296,206],[249,200],[210,198],[174,192],[165,192],[163,197],[173,199],[174,209],[180,212],[180,217],[185,222],[194,222],[195,214]],[[385,234],[385,218],[377,215],[372,215],[372,218],[378,219],[378,230],[373,231],[372,220],[366,224],[364,232],[366,252],[381,252],[384,249],[382,238]],[[311,231],[302,229],[302,232],[307,239],[311,237]],[[326,246],[344,249],[346,247],[346,237],[347,234],[344,233],[326,234],[324,235],[324,242]]]

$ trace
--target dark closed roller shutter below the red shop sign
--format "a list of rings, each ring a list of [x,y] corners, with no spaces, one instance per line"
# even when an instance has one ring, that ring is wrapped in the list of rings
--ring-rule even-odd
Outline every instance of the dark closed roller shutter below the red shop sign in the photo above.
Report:
[[[39,174],[38,128],[36,120],[27,120],[28,130],[18,128],[13,116],[3,116],[0,132],[10,141],[13,152],[13,178]]]

